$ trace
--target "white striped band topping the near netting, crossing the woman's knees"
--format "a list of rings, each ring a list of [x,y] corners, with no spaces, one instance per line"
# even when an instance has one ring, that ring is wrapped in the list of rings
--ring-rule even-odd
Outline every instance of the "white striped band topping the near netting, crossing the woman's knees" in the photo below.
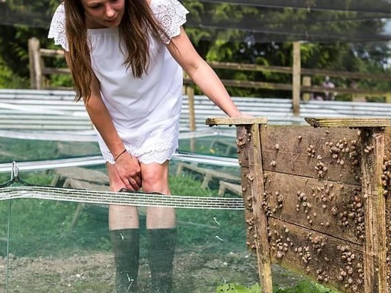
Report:
[[[0,188],[0,201],[14,199],[41,199],[100,205],[160,206],[192,209],[244,209],[241,198],[173,196],[142,192],[105,192],[37,186]]]

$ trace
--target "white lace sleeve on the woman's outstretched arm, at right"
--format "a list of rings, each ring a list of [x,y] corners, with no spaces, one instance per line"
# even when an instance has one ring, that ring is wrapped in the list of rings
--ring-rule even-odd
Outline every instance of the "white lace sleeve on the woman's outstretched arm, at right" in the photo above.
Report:
[[[180,26],[186,22],[189,11],[178,0],[151,0],[150,8],[157,21],[169,36],[161,35],[168,44],[171,38],[180,34]]]

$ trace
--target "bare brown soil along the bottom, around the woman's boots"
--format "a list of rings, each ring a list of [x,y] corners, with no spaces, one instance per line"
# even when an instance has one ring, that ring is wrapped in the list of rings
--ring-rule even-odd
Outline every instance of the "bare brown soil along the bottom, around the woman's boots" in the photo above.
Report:
[[[216,258],[202,250],[178,251],[175,258],[175,292],[215,292],[220,284],[257,282],[256,261],[246,253],[228,253]],[[0,259],[0,291],[5,292],[6,259]],[[146,259],[140,261],[139,286],[150,292],[150,273]],[[292,286],[299,279],[273,267],[274,282],[280,287]],[[69,258],[15,258],[9,264],[9,292],[12,293],[97,293],[114,292],[113,254],[90,253]]]

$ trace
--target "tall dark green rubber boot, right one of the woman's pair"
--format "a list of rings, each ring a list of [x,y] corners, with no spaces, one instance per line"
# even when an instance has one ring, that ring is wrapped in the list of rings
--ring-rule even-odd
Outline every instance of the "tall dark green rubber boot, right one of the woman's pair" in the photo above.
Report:
[[[177,229],[149,229],[148,238],[152,292],[171,293]]]

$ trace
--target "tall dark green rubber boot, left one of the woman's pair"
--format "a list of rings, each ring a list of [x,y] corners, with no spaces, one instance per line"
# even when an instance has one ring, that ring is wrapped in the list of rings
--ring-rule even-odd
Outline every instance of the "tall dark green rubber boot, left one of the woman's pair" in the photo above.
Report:
[[[116,292],[137,292],[137,277],[140,257],[139,229],[110,231],[116,264]]]

